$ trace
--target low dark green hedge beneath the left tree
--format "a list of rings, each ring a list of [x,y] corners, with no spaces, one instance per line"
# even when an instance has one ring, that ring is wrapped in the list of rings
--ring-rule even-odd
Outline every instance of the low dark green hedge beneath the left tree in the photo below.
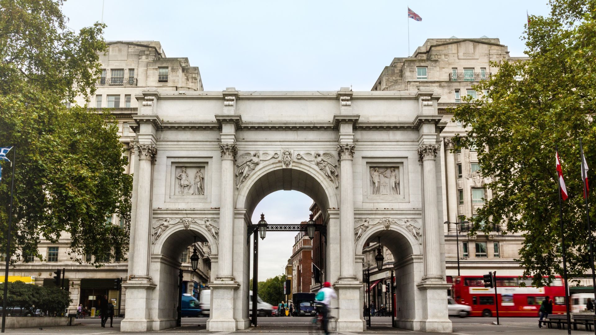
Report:
[[[0,300],[4,291],[0,291]],[[61,315],[72,302],[70,292],[58,287],[26,284],[22,281],[8,283],[7,309],[20,307],[30,312],[39,309],[47,315]]]

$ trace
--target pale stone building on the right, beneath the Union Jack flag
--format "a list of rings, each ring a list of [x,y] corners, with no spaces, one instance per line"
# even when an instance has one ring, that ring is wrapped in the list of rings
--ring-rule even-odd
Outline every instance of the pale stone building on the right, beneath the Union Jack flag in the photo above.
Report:
[[[507,46],[497,38],[427,39],[411,57],[394,58],[386,66],[372,91],[433,91],[440,95],[437,109],[446,124],[440,133],[440,173],[442,184],[442,222],[461,222],[471,218],[492,190],[485,188],[491,176],[483,176],[474,148],[453,151],[454,137],[465,136],[466,129],[452,120],[451,107],[462,103],[462,97],[479,97],[483,92],[472,88],[496,71],[491,62],[523,61],[511,57]],[[523,269],[514,261],[519,256],[523,237],[503,235],[505,226],[492,227],[488,235],[468,237],[466,225],[445,225],[445,255],[448,277],[458,275],[457,249],[461,275],[481,275],[497,271],[498,275],[521,275]],[[458,236],[459,245],[457,245]]]

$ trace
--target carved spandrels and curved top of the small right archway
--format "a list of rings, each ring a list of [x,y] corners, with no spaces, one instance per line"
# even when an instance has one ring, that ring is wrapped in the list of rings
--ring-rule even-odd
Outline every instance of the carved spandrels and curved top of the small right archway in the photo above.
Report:
[[[362,254],[364,245],[368,242],[376,242],[378,237],[381,238],[381,244],[390,250],[396,260],[409,255],[422,255],[420,219],[356,219],[354,227],[357,238],[356,255]],[[359,229],[364,231],[360,232]],[[360,235],[359,238],[358,235]]]

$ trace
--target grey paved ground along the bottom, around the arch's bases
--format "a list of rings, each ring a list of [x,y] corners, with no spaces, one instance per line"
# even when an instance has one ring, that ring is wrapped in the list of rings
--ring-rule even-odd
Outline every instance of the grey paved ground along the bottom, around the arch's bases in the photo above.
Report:
[[[85,335],[111,335],[120,332],[120,321],[114,319],[114,328],[101,328],[100,320],[85,319],[77,320],[81,324],[75,327],[48,327],[43,330],[36,328],[27,329],[7,329],[7,333],[23,335],[39,334],[85,334]],[[224,335],[228,332],[212,332],[205,330],[206,318],[182,318],[182,327],[162,331],[152,331],[149,333],[126,333],[126,334],[216,334]],[[246,334],[308,334],[310,318],[259,318],[259,326],[251,327],[247,330],[235,331],[234,335]],[[496,318],[452,318],[452,335],[501,335],[501,333],[510,333],[517,335],[565,335],[567,330],[548,329],[546,327],[538,328],[536,318],[501,318],[501,325],[492,324]],[[392,328],[391,318],[374,317],[373,327],[364,333],[342,334],[371,334],[371,335],[421,335],[430,333],[421,333],[417,331],[399,330]],[[582,328],[582,327],[580,327]],[[436,333],[434,333],[436,334]],[[574,335],[593,335],[594,331],[572,330]]]

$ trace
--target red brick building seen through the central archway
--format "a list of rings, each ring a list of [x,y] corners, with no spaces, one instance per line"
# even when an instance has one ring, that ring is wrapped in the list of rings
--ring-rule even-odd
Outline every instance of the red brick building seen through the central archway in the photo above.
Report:
[[[300,222],[306,225],[306,221]],[[304,231],[294,237],[292,247],[292,293],[310,292],[312,281],[312,240]]]

